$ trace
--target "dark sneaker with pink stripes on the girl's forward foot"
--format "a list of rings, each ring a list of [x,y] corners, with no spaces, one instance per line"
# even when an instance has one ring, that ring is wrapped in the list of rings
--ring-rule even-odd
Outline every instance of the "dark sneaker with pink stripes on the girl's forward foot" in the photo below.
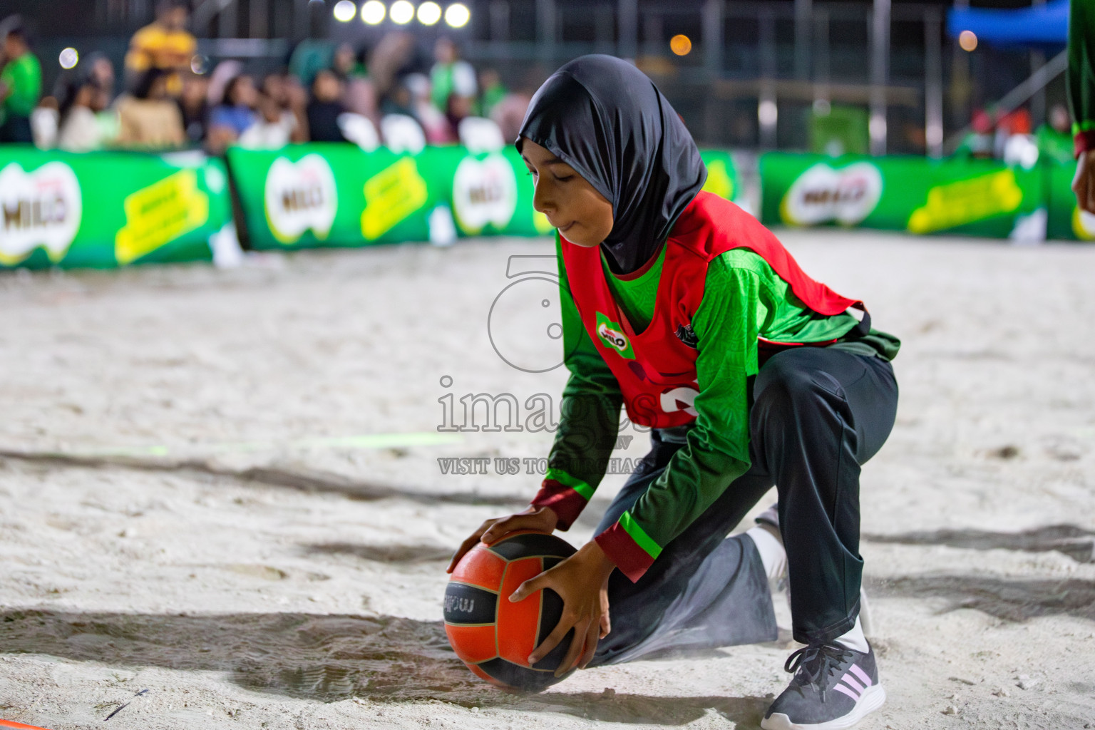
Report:
[[[873,650],[811,644],[783,668],[795,677],[761,720],[764,730],[844,730],[886,702]]]

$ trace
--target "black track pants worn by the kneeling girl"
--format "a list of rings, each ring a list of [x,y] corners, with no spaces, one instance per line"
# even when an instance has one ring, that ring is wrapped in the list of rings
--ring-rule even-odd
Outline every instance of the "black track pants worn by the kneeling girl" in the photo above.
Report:
[[[833,348],[784,350],[753,384],[750,470],[669,545],[635,583],[609,581],[612,631],[592,664],[667,649],[775,638],[772,601],[752,541],[726,538],[772,485],[787,551],[795,639],[833,639],[860,611],[860,466],[897,414],[894,370],[881,358]],[[606,511],[611,526],[683,443],[655,431],[652,450]]]

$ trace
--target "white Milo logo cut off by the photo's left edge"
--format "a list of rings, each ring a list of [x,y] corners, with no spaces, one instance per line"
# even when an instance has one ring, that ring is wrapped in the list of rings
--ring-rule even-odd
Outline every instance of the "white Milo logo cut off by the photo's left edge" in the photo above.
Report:
[[[80,184],[67,164],[49,162],[27,173],[12,162],[0,171],[0,263],[14,266],[38,246],[59,262],[82,210]]]

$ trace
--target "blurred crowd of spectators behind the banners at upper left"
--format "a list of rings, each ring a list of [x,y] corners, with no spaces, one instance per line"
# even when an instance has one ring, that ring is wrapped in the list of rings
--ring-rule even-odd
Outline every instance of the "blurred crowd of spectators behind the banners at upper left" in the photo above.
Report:
[[[287,66],[261,74],[235,60],[207,72],[187,22],[184,0],[163,0],[155,22],[132,37],[120,84],[111,60],[90,54],[43,96],[28,34],[18,16],[7,19],[0,24],[0,142],[220,154],[231,144],[348,141],[371,149],[399,140],[413,151],[461,142],[468,117],[493,119],[503,139],[514,139],[529,103],[528,94],[508,92],[497,71],[476,73],[451,39],[439,39],[430,59],[405,32],[371,49],[306,40]],[[481,130],[480,124],[473,127]]]

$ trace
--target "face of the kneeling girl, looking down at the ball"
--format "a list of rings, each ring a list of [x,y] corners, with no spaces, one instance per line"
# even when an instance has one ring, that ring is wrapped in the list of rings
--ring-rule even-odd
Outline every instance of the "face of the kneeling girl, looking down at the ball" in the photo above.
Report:
[[[521,158],[535,185],[532,207],[570,243],[600,245],[612,232],[612,204],[574,167],[532,140],[522,138]]]

